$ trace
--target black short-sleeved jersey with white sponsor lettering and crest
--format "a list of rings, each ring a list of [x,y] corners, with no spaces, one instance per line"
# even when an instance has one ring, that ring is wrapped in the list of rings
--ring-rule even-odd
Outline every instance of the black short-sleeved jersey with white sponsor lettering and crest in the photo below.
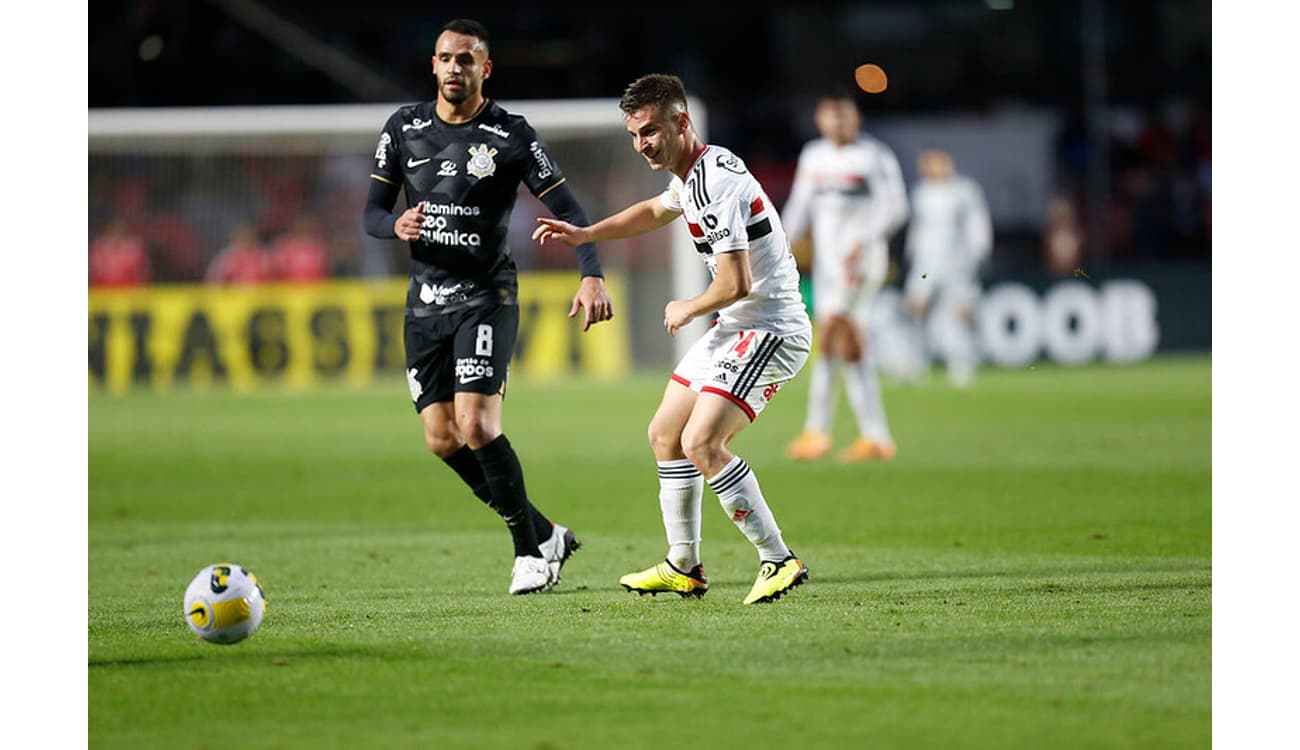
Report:
[[[450,125],[434,105],[412,104],[389,117],[370,173],[404,187],[407,208],[424,204],[407,309],[432,315],[514,303],[519,281],[506,230],[519,183],[541,198],[564,175],[523,116],[489,100],[473,120]]]

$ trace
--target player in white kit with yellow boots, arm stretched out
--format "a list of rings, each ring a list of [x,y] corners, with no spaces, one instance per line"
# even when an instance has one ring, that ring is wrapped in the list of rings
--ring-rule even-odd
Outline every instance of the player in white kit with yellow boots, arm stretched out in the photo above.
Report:
[[[641,594],[708,590],[699,559],[707,482],[758,551],[758,578],[745,603],[771,602],[807,580],[807,567],[785,546],[753,469],[727,446],[807,361],[812,326],[794,256],[771,198],[745,162],[694,131],[676,75],[634,81],[619,108],[633,148],[650,169],[672,174],[668,188],[590,226],[541,217],[533,238],[578,246],[644,234],[682,216],[712,281],[699,296],[670,302],[663,325],[676,335],[692,320],[718,313],[677,363],[650,420],[668,554],[619,584]]]

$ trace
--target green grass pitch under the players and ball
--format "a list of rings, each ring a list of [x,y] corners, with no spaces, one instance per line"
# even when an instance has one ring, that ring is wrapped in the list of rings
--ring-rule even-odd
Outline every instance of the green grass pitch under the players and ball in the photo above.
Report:
[[[783,458],[800,378],[732,446],[811,572],[753,607],[708,490],[708,595],[616,584],[664,552],[666,376],[512,383],[529,495],[585,542],[532,597],[400,378],[91,396],[90,746],[1210,746],[1209,356],[889,385],[898,458],[854,467]],[[225,560],[269,599],[235,646],[181,611]]]

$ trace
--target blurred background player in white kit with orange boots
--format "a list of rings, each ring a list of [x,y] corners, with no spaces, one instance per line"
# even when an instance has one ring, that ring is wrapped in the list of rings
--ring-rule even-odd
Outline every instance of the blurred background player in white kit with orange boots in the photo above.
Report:
[[[822,138],[800,153],[781,212],[792,239],[812,238],[818,325],[807,417],[786,455],[810,461],[831,452],[838,370],[858,428],[840,460],[889,460],[898,450],[880,398],[867,321],[889,270],[889,237],[907,220],[907,186],[893,151],[859,131],[862,116],[852,96],[820,97],[814,121]]]

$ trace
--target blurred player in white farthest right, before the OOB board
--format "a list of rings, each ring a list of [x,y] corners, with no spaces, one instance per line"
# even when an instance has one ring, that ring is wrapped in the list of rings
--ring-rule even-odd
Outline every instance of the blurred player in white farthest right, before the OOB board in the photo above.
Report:
[[[946,151],[923,148],[916,166],[920,179],[911,192],[904,304],[916,320],[918,335],[932,342],[944,357],[948,380],[966,387],[979,363],[971,320],[979,303],[980,266],[993,250],[993,224],[984,191],[974,179],[957,173]],[[928,348],[915,347],[920,352]],[[911,374],[919,376],[923,367]]]

